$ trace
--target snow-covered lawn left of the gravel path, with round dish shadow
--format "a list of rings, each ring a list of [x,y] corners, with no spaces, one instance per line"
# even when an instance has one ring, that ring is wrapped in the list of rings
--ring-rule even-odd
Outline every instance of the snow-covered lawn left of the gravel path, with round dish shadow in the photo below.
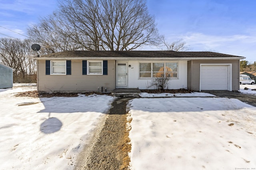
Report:
[[[74,169],[114,98],[14,97],[28,90],[36,87],[0,89],[0,169]]]

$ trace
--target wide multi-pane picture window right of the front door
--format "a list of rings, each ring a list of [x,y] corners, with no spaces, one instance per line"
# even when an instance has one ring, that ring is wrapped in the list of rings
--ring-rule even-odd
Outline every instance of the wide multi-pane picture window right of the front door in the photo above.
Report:
[[[178,78],[178,63],[140,63],[140,78]]]

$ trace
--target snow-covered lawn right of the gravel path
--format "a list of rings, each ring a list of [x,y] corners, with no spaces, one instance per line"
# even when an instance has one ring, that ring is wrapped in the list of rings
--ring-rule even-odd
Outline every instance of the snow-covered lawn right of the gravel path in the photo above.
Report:
[[[256,107],[228,98],[130,101],[130,169],[256,168]]]

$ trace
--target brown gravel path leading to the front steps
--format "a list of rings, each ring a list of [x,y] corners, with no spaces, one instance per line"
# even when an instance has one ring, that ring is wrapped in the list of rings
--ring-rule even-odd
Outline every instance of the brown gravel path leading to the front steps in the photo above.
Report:
[[[103,128],[90,149],[80,154],[79,170],[127,170],[131,146],[126,131],[126,103],[132,98],[117,98]],[[85,146],[88,147],[88,146]],[[82,160],[82,161],[81,161]]]

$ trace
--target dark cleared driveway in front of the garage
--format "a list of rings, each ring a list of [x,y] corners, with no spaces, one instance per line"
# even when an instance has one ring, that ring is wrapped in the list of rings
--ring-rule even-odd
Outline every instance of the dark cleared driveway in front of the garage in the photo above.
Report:
[[[202,90],[202,92],[210,93],[221,98],[234,98],[246,104],[256,107],[256,95],[244,94],[241,92],[230,92],[228,90]]]

